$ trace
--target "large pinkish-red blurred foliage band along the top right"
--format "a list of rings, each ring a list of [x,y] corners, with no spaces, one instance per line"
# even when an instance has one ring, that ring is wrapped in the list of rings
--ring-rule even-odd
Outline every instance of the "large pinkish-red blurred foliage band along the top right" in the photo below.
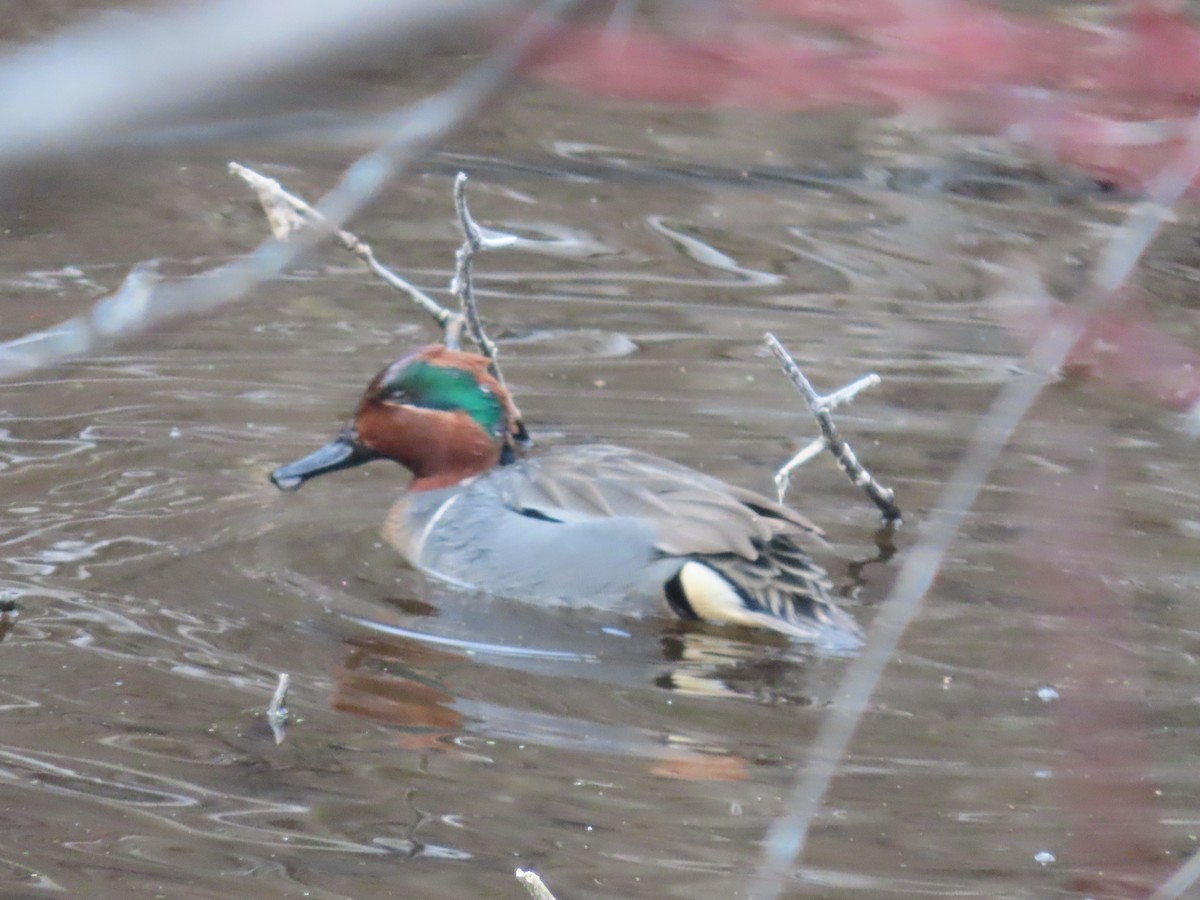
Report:
[[[973,0],[730,0],[721,12],[678,29],[698,38],[566,28],[528,71],[625,100],[918,112],[1134,192],[1182,145],[1200,102],[1200,29],[1150,0],[1097,25]]]

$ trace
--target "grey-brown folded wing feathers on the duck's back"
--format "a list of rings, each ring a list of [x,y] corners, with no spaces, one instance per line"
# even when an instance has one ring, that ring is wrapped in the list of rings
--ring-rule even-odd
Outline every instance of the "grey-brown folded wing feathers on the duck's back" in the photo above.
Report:
[[[646,521],[658,550],[671,556],[755,559],[775,536],[821,535],[804,516],[760,493],[619,446],[577,446],[523,460],[496,470],[496,485],[505,505],[524,515]]]

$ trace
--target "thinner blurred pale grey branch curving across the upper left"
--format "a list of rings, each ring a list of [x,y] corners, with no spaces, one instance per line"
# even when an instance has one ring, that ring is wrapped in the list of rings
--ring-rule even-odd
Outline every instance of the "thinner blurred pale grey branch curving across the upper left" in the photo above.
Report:
[[[390,116],[386,124],[392,137],[350,166],[338,185],[317,204],[329,227],[341,227],[370,203],[389,179],[474,115],[545,35],[545,17],[558,17],[575,2],[577,0],[547,0],[542,7],[545,16],[532,16],[454,85]],[[270,238],[248,256],[191,278],[155,280],[133,286],[127,282],[89,312],[46,331],[0,344],[0,378],[107,347],[172,319],[212,312],[276,277],[320,238],[316,229],[301,232],[286,244]]]

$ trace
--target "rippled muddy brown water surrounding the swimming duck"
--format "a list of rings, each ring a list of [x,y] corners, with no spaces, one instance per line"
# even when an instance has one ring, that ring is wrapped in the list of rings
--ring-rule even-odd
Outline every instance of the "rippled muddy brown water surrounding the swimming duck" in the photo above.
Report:
[[[6,206],[0,337],[139,260],[250,248],[260,216],[227,160],[316,196],[359,149],[128,151],[44,178]],[[829,461],[790,494],[865,625],[1013,378],[977,262],[1069,282],[1129,206],[919,124],[527,84],[355,223],[439,296],[457,168],[480,221],[527,239],[479,260],[478,289],[540,445],[622,443],[768,490],[812,426],[764,330],[820,385],[883,376],[841,422],[907,512],[896,554]],[[1142,282],[1200,346],[1194,228],[1182,209]],[[391,466],[266,482],[434,337],[330,250],[218,316],[0,384],[0,590],[20,604],[0,643],[0,895],[516,898],[518,865],[564,900],[744,890],[845,656],[431,583],[378,535]],[[1177,416],[1103,385],[1044,394],[790,896],[1136,896],[1196,848],[1195,452]],[[1037,562],[1058,548],[1066,576]]]

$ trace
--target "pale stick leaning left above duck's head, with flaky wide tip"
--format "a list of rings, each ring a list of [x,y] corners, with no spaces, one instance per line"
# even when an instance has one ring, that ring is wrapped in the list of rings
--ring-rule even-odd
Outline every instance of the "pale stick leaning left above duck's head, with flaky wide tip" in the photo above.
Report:
[[[284,190],[274,178],[266,178],[253,169],[238,162],[229,163],[229,172],[238,175],[251,186],[258,197],[266,221],[271,227],[271,234],[276,240],[287,241],[301,228],[316,228],[328,232],[335,241],[361,259],[367,269],[378,275],[384,283],[406,294],[414,304],[428,313],[442,329],[446,347],[458,349],[463,325],[466,324],[462,313],[452,312],[442,306],[437,300],[426,294],[407,278],[402,278],[391,269],[380,263],[371,245],[359,238],[353,232],[344,228],[330,228],[329,221],[306,200]]]

